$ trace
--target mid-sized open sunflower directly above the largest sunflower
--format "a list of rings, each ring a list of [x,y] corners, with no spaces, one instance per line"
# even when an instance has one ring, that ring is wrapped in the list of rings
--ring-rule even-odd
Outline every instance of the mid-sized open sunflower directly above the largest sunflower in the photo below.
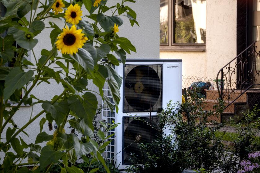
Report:
[[[66,22],[76,25],[80,22],[81,15],[82,11],[80,10],[80,6],[78,4],[75,4],[74,6],[71,4],[65,11],[64,18],[66,19]]]

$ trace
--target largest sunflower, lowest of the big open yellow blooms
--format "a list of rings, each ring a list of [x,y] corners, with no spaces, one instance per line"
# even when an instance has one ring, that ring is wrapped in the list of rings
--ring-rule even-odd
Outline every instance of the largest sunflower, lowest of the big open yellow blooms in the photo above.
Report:
[[[69,29],[67,26],[63,28],[63,32],[58,36],[56,47],[63,54],[73,54],[78,52],[78,48],[84,45],[82,29],[77,29],[75,25]]]

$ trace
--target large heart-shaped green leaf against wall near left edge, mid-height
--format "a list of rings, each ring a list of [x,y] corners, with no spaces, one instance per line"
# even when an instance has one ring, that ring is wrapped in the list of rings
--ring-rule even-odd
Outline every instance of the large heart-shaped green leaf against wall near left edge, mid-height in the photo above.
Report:
[[[4,99],[7,100],[15,92],[21,89],[27,82],[33,79],[33,70],[24,72],[20,67],[13,68],[5,79]]]

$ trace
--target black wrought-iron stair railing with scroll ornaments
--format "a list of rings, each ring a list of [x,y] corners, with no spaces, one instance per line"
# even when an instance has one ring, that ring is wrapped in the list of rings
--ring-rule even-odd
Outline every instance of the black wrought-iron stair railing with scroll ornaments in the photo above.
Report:
[[[257,42],[259,41],[253,42],[243,52],[223,66],[217,74],[216,86],[219,98],[224,99],[228,103],[225,108],[234,103],[236,99],[252,87],[256,82],[256,76],[260,75],[260,70],[257,70],[257,63],[260,61],[260,51],[257,50],[256,46]],[[232,83],[235,83],[235,86]],[[232,98],[235,92],[240,94]]]

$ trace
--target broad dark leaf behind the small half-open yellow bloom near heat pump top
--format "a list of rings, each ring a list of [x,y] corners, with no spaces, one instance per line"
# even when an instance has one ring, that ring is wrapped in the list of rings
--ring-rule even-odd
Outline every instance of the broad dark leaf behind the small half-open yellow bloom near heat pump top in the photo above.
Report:
[[[99,13],[97,15],[97,20],[100,26],[105,31],[111,31],[111,28],[114,27],[114,24],[117,24],[118,26],[121,26],[123,24],[123,20],[118,16],[106,16],[102,13]]]

